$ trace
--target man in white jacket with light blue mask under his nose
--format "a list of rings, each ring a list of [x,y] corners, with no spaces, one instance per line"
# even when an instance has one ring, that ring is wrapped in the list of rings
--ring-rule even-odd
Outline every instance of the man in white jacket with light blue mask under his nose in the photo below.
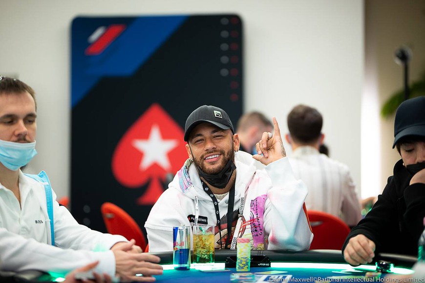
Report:
[[[134,240],[79,225],[56,202],[44,171],[22,173],[20,168],[37,154],[36,117],[34,90],[0,76],[0,270],[66,273],[99,262],[95,272],[123,281],[162,274],[155,264],[160,259],[140,253]],[[138,273],[145,276],[136,277]]]

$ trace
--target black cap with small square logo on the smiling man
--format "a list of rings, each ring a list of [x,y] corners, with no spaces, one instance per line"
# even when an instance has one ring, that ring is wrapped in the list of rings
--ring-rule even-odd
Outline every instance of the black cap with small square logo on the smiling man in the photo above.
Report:
[[[229,115],[223,109],[212,105],[202,105],[193,111],[186,120],[185,142],[189,140],[189,135],[193,128],[203,122],[212,123],[223,130],[231,129],[232,133],[234,133],[232,121],[230,121]]]

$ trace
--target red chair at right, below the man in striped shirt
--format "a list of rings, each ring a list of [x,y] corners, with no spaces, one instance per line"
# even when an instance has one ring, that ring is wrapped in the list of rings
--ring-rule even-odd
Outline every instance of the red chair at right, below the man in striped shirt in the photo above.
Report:
[[[348,225],[323,211],[308,210],[307,213],[314,234],[310,249],[340,250],[350,232]]]

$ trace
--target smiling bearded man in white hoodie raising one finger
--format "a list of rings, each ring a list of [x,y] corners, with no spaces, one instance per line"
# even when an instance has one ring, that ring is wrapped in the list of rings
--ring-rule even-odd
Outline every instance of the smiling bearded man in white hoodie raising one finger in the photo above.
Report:
[[[173,226],[200,224],[215,226],[217,249],[234,249],[240,237],[249,238],[253,249],[309,248],[307,188],[295,180],[275,118],[273,123],[274,134],[264,132],[252,156],[238,152],[238,135],[223,109],[203,105],[189,115],[189,159],[150,211],[149,251],[172,251]],[[255,162],[266,166],[256,170]]]

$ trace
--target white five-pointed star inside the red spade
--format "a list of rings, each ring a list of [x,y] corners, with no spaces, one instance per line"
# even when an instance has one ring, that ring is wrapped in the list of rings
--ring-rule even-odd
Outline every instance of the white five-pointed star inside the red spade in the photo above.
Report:
[[[177,146],[177,140],[163,140],[158,125],[152,125],[148,140],[133,140],[132,145],[143,153],[140,169],[145,170],[157,163],[165,170],[170,170],[168,153]]]

